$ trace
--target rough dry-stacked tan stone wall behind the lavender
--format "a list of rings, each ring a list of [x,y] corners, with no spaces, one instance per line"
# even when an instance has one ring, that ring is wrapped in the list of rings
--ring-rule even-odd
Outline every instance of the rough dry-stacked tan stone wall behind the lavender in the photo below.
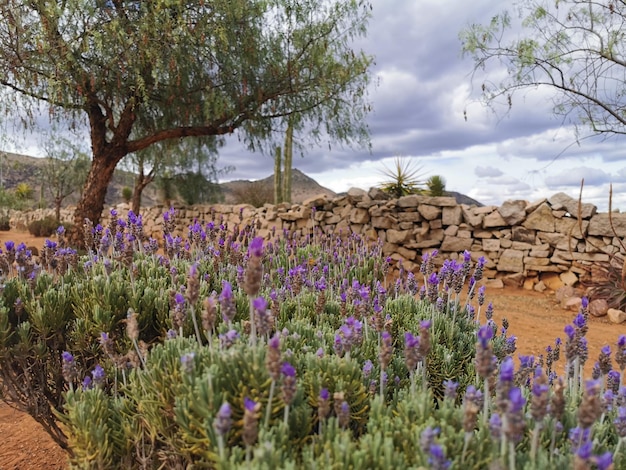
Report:
[[[117,207],[123,216],[127,207]],[[162,236],[164,207],[142,211],[147,233]],[[421,254],[434,249],[440,259],[456,258],[464,250],[472,258],[483,256],[485,276],[492,284],[510,283],[526,287],[546,285],[556,289],[575,285],[592,275],[597,262],[610,255],[624,254],[626,214],[597,213],[595,206],[558,193],[528,203],[506,201],[502,206],[458,205],[452,197],[411,195],[387,199],[375,188],[369,192],[352,189],[334,199],[319,196],[301,205],[212,205],[177,208],[179,234],[194,219],[200,222],[223,220],[229,226],[254,221],[260,234],[270,230],[355,232],[369,240],[380,240],[383,252],[406,269],[419,269]],[[25,227],[31,220],[51,211],[14,213],[13,227]],[[579,218],[580,216],[580,218]],[[62,218],[72,220],[72,209]],[[108,212],[103,219],[103,225]],[[611,220],[610,220],[611,219]],[[612,221],[612,224],[611,224]],[[612,226],[611,226],[612,225]]]

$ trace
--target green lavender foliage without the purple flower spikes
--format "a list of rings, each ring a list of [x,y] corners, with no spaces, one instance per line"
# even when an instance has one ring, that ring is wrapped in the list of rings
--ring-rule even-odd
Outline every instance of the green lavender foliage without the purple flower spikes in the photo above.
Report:
[[[530,386],[520,384],[525,428],[513,451],[503,452],[482,408],[472,430],[465,429],[463,394],[484,384],[474,366],[478,325],[463,306],[463,295],[439,285],[437,295],[447,300],[431,303],[418,299],[402,279],[387,285],[388,265],[380,245],[370,246],[358,236],[278,234],[265,245],[259,293],[273,299],[274,323],[269,334],[260,334],[252,344],[242,272],[254,229],[235,227],[237,235],[231,238],[223,237],[221,228],[214,230],[219,233],[209,233],[207,240],[219,244],[219,250],[194,242],[189,250],[167,257],[136,251],[131,260],[109,250],[97,259],[86,256],[81,263],[87,264],[75,263],[62,273],[52,269],[34,280],[5,279],[0,297],[3,393],[28,407],[71,449],[73,467],[429,468],[434,464],[422,435],[437,429],[435,442],[453,468],[510,467],[511,455],[516,468],[572,468],[568,436],[578,425],[584,387],[578,394],[567,388],[558,423],[550,415],[544,419],[534,455],[530,449],[537,423],[528,404],[532,380]],[[222,238],[223,243],[217,242]],[[172,338],[171,299],[186,292],[192,263],[198,270],[199,298],[185,305],[186,319]],[[221,291],[222,281],[233,286],[236,315],[227,323],[218,309],[213,329],[197,339],[193,312],[199,314],[202,301]],[[381,331],[369,321],[374,297],[380,299],[383,329],[393,346],[384,371]],[[129,309],[136,317],[128,317]],[[362,330],[347,352],[337,349],[337,335],[349,317],[361,321]],[[424,321],[430,322],[431,346],[413,376],[404,356],[404,335],[420,334]],[[495,324],[489,328],[496,333],[489,345],[499,367],[510,354],[508,337]],[[232,345],[221,339],[229,330],[237,335]],[[112,353],[100,344],[103,332]],[[268,340],[275,334],[280,361],[296,371],[288,406],[281,390],[285,379],[273,386],[267,369]],[[76,366],[69,383],[62,373],[64,351],[73,355]],[[370,371],[365,370],[368,361]],[[104,382],[81,385],[96,364],[105,370]],[[459,384],[456,397],[445,396],[445,381]],[[498,406],[494,389],[492,383],[489,415]],[[329,414],[321,416],[324,392]],[[260,407],[251,446],[244,443],[250,430],[246,399]],[[232,426],[221,447],[214,422],[225,402]],[[613,425],[617,408],[606,409],[591,432],[594,456],[615,452],[615,468],[620,468],[626,465],[626,445],[618,446]]]

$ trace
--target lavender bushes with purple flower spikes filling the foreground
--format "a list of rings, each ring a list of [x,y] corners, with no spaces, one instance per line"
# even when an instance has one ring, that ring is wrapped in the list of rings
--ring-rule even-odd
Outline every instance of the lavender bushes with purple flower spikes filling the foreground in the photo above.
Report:
[[[491,306],[481,322],[469,253],[389,284],[380,245],[356,235],[260,241],[196,221],[183,239],[175,212],[165,222],[165,255],[117,214],[86,225],[82,258],[48,242],[34,276],[26,253],[3,253],[3,391],[73,466],[626,465],[626,339],[583,381],[584,309],[559,376],[560,340],[516,366]]]

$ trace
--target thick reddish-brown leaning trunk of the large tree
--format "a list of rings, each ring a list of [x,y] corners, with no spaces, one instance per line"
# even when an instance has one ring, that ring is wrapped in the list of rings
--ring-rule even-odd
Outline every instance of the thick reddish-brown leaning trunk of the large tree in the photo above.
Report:
[[[85,219],[91,220],[94,225],[100,223],[109,183],[113,178],[115,167],[124,156],[122,152],[119,153],[119,155],[104,153],[93,156],[83,194],[74,211],[74,226],[69,234],[69,242],[72,246],[84,245]]]

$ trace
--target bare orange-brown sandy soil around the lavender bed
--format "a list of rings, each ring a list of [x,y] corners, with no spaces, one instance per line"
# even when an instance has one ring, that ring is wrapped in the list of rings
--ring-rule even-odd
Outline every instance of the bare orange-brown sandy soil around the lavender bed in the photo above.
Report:
[[[0,232],[0,243],[6,240],[24,242],[41,248],[44,238],[34,238],[23,232]],[[509,332],[517,336],[517,354],[542,354],[545,347],[563,337],[563,328],[571,323],[575,312],[563,310],[554,293],[538,293],[523,289],[504,288],[487,291],[487,301],[494,305],[494,320],[501,324],[507,318]],[[604,318],[590,318],[589,365],[593,365],[602,346],[613,346],[620,334],[626,334],[626,324],[615,325]],[[30,416],[10,408],[0,401],[0,470],[64,469],[65,453],[52,442],[41,426]]]

